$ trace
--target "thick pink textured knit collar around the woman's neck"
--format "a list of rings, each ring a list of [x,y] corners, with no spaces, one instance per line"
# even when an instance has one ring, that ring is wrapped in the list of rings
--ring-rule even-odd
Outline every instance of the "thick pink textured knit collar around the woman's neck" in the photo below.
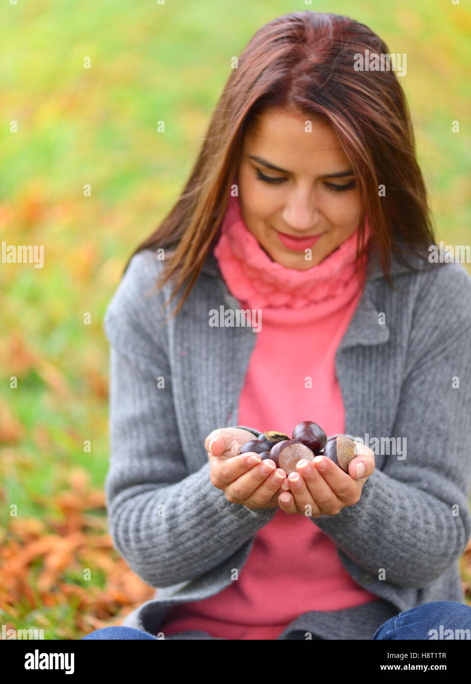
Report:
[[[357,232],[307,271],[287,268],[268,257],[242,219],[238,197],[230,196],[214,256],[243,308],[262,309],[265,320],[302,323],[337,310],[358,295],[356,237]],[[368,222],[365,237],[370,237]],[[363,269],[365,265],[364,258]]]

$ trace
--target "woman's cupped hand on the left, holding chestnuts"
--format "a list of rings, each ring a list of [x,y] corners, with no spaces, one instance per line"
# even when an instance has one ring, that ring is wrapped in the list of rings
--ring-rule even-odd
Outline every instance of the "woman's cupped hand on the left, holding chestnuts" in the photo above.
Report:
[[[231,503],[246,508],[276,508],[286,473],[271,459],[260,461],[258,453],[237,456],[239,448],[251,439],[256,437],[242,428],[219,428],[208,434],[205,449],[211,464],[211,482]]]

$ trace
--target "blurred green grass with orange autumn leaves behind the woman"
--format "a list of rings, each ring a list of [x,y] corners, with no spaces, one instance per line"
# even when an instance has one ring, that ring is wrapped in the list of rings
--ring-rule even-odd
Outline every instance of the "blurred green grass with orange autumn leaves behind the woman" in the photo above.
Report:
[[[0,623],[7,629],[76,640],[121,624],[154,596],[107,529],[102,319],[130,253],[182,191],[231,57],[264,23],[306,9],[352,16],[390,52],[407,54],[399,80],[438,240],[470,244],[466,3],[1,5],[0,243],[42,244],[45,258],[38,269],[0,263]],[[471,605],[468,549],[461,573]]]

